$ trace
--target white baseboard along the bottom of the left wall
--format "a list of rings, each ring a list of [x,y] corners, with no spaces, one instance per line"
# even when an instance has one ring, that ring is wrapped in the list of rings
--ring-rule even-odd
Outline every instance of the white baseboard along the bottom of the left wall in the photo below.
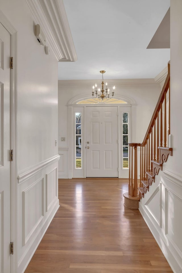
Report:
[[[32,241],[32,244],[28,247],[27,251],[21,258],[20,262],[18,262],[18,273],[24,273],[24,271],[26,270],[30,260],[32,259],[38,245],[40,244],[44,234],[46,233],[47,228],[49,227],[58,209],[59,209],[59,199],[56,200],[55,205],[53,206],[52,210],[47,216],[46,221],[37,232],[36,239]]]

